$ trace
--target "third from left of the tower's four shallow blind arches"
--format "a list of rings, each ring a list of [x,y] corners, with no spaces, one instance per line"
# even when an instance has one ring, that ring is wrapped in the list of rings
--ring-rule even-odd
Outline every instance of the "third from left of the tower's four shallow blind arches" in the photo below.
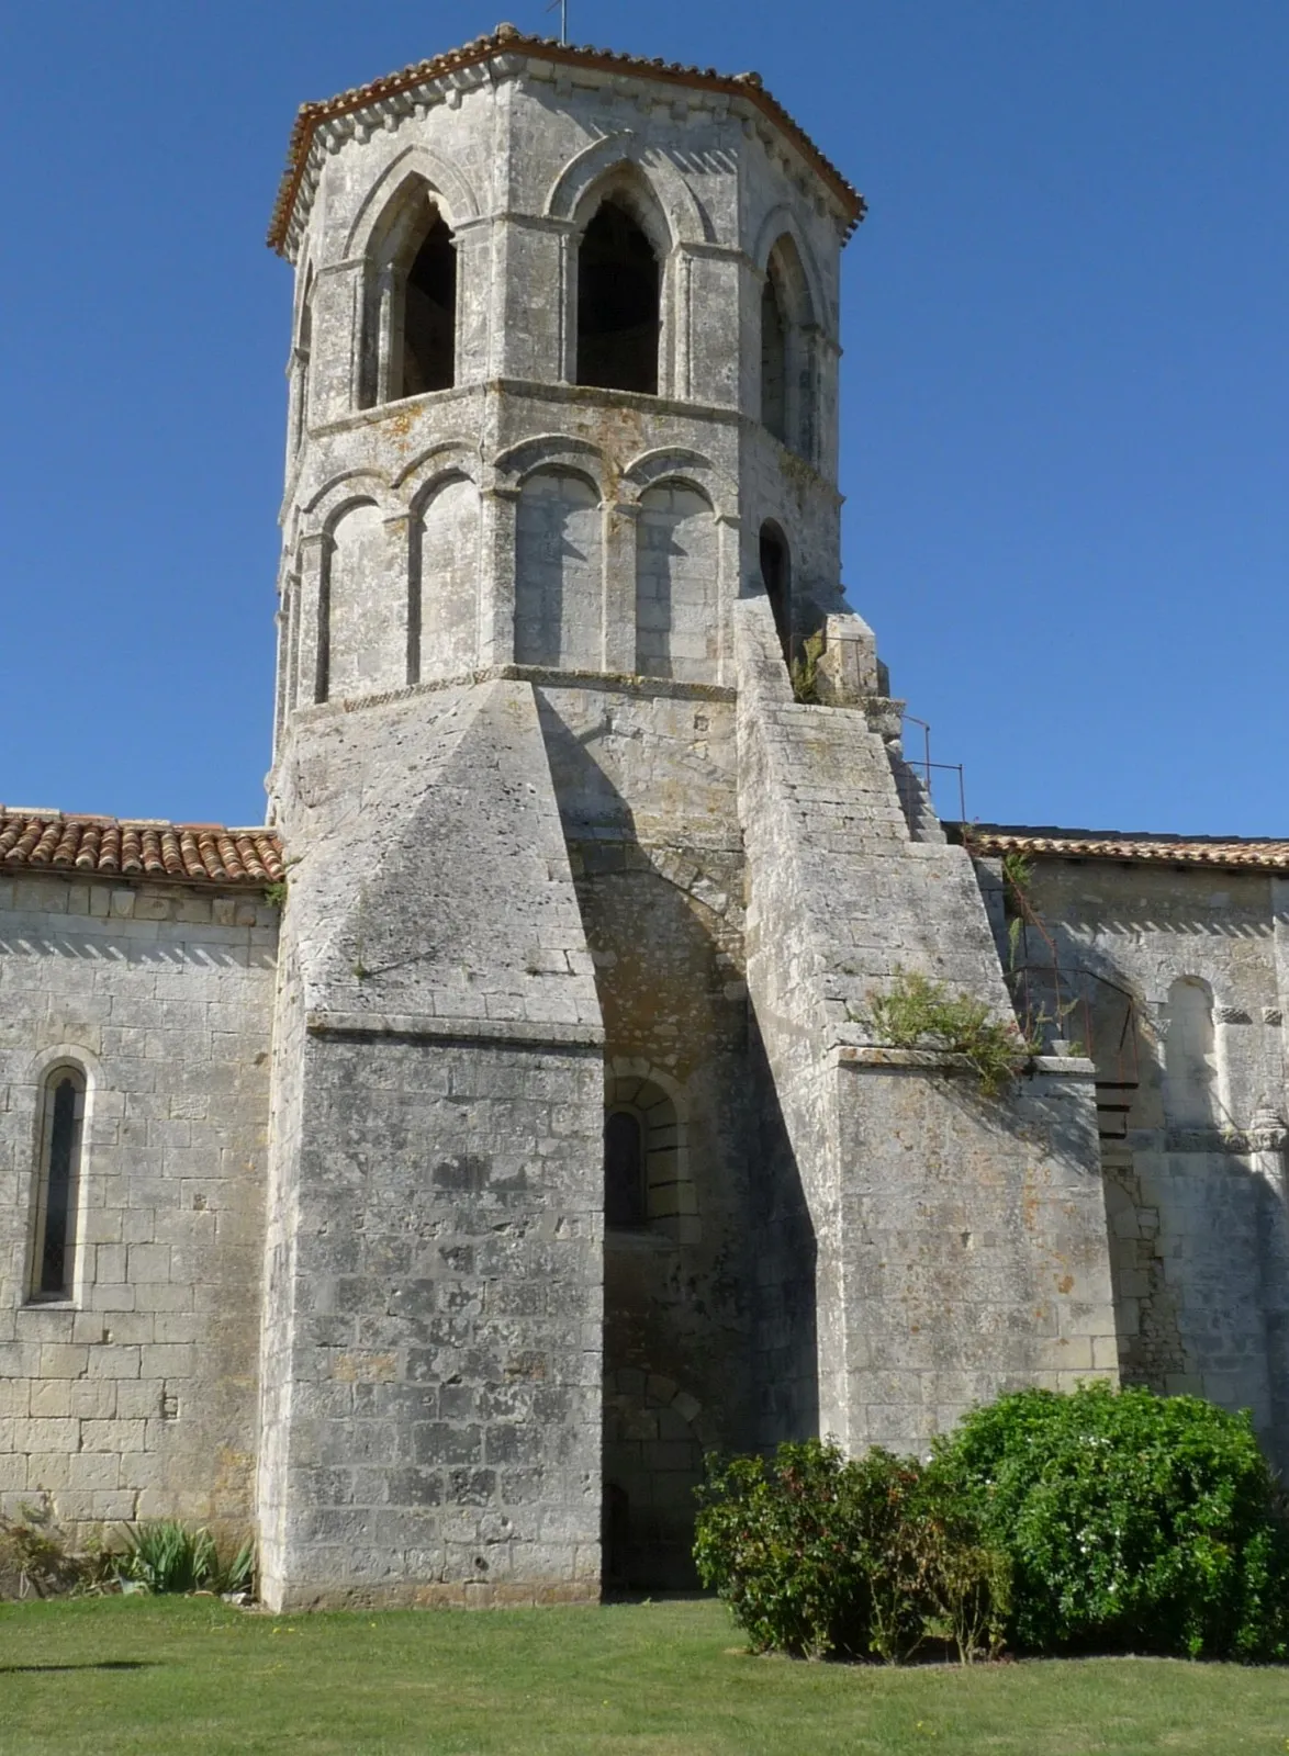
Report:
[[[599,671],[604,662],[604,516],[599,490],[536,469],[515,525],[515,662]]]

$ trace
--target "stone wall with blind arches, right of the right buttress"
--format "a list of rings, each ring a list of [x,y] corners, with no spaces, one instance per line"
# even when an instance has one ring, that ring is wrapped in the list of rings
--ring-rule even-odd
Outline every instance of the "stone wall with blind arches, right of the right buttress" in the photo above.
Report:
[[[1064,1029],[1089,1031],[1101,1082],[1124,1380],[1252,1408],[1282,1465],[1285,896],[1266,874],[1103,859],[1040,859],[1031,883],[1080,997]]]

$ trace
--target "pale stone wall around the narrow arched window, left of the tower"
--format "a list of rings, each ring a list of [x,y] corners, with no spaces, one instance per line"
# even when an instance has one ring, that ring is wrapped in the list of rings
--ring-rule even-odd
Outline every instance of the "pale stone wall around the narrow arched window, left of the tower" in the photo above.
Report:
[[[251,1521],[277,910],[0,878],[0,1507]],[[47,1068],[88,1076],[74,1296],[32,1303]]]

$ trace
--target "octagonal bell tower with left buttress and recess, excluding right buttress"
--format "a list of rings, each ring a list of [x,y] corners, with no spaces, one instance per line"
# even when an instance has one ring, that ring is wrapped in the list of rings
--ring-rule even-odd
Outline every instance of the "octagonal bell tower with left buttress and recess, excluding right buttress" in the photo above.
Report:
[[[300,111],[277,1607],[666,1584],[757,1436],[734,606],[841,608],[861,211],[757,76],[506,25]]]

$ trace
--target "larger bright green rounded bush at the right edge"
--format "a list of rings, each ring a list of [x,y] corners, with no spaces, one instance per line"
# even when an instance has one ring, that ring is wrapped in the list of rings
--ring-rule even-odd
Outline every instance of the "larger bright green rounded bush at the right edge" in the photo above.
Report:
[[[1024,1649],[1289,1654],[1289,1533],[1247,1414],[1020,1391],[969,1414],[931,1477],[1010,1556]]]

